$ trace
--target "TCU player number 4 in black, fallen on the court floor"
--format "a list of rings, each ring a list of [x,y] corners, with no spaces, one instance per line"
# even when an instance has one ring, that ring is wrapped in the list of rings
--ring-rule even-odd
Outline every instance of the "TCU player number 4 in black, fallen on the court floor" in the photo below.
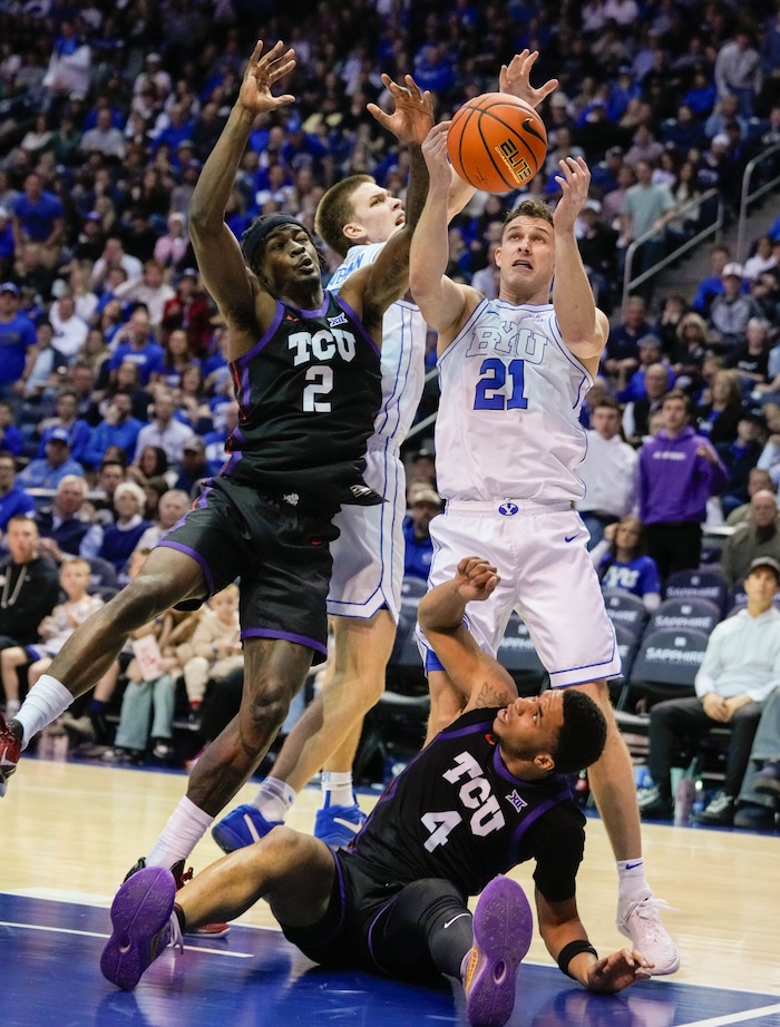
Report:
[[[631,949],[599,959],[577,913],[585,818],[562,773],[598,757],[604,716],[573,688],[515,697],[509,674],[464,626],[467,603],[486,599],[497,581],[495,567],[467,557],[420,603],[420,623],[466,712],[399,774],[352,848],[279,827],[178,894],[169,871],[139,871],[111,908],[100,961],[109,980],[134,988],[183,929],[237,917],[264,897],[311,959],[409,980],[447,974],[464,982],[470,1024],[505,1024],[533,918],[523,889],[504,874],[529,859],[539,931],[565,974],[594,991],[650,976]],[[480,891],[472,918],[467,897]]]

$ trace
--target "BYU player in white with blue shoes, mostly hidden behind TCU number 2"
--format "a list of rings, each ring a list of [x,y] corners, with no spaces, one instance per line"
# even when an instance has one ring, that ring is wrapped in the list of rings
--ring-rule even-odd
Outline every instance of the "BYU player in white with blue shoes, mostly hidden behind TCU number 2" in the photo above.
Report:
[[[538,57],[524,50],[504,66],[499,88],[537,106],[556,87],[529,84]],[[376,113],[374,113],[376,116]],[[461,211],[474,189],[450,174],[447,217]],[[354,175],[323,196],[316,231],[344,261],[329,288],[377,258],[384,242],[404,223],[401,200],[369,175]],[[384,688],[392,652],[403,578],[406,476],[399,447],[411,427],[422,393],[427,326],[416,304],[394,303],[382,329],[382,407],[368,442],[364,479],[386,497],[374,507],[344,507],[334,524],[341,530],[332,544],[333,574],[328,597],[334,653],[325,686],[287,736],[252,804],[241,805],[215,827],[226,849],[251,844],[283,821],[295,794],[322,767],[324,806],[315,834],[333,845],[347,844],[360,828],[361,813],[352,792],[352,761],[363,715]]]

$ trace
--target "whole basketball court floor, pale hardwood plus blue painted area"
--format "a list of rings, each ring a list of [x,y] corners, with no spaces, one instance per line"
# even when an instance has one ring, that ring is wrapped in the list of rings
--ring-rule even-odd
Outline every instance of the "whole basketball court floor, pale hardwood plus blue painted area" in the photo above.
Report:
[[[447,989],[313,971],[275,930],[262,902],[226,939],[195,941],[181,958],[166,952],[133,996],[114,991],[97,969],[108,932],[106,909],[185,783],[179,773],[22,759],[0,802],[3,1027],[465,1023],[459,996],[454,1000]],[[254,790],[250,783],[237,801]],[[360,798],[365,810],[374,801]],[[291,825],[311,830],[318,802],[318,791],[306,790]],[[643,833],[655,893],[677,910],[664,920],[681,951],[680,971],[618,999],[589,996],[572,987],[535,938],[521,974],[527,996],[510,1024],[780,1027],[780,839],[663,824],[645,825]],[[204,838],[193,853],[195,871],[220,854],[211,837]],[[532,891],[529,864],[513,876]],[[592,941],[599,952],[622,947],[614,927],[614,862],[597,818],[588,821],[578,880]],[[198,948],[211,962],[203,953],[189,955]]]

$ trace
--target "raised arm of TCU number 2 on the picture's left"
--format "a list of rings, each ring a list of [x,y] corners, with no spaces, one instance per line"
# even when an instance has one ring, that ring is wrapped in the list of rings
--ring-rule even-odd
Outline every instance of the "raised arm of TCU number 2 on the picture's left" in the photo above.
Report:
[[[282,42],[267,53],[262,50],[259,41],[246,66],[238,99],[203,166],[189,205],[189,236],[197,264],[231,334],[252,332],[257,296],[265,296],[269,310],[273,307],[270,294],[246,268],[241,245],[225,224],[225,207],[254,119],[294,100],[289,94],[271,95],[271,87],[295,67],[293,51],[285,50]]]

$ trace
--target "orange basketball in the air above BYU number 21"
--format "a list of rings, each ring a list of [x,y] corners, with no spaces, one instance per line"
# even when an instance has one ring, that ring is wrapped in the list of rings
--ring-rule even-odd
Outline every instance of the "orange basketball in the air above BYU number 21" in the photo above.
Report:
[[[547,155],[547,133],[533,107],[507,92],[484,92],[460,107],[447,134],[457,174],[487,193],[528,185]]]

